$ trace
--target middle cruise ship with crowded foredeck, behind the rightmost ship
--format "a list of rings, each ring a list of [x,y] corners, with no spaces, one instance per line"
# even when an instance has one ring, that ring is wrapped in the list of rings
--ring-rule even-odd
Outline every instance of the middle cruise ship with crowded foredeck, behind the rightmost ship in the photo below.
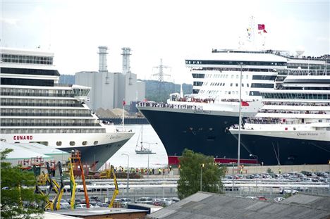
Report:
[[[292,56],[288,51],[213,49],[209,57],[185,60],[194,78],[193,94],[172,94],[166,104],[141,103],[138,108],[168,156],[181,156],[186,148],[237,158],[238,143],[228,127],[238,124],[239,111],[243,118],[255,116],[262,108],[261,93],[273,91],[289,70],[324,68],[325,63],[322,57],[300,52]]]

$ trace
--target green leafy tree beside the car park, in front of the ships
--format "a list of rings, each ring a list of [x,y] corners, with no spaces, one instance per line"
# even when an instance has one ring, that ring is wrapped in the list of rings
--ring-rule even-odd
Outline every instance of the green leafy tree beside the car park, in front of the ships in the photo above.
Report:
[[[202,168],[202,191],[222,192],[221,177],[226,173],[225,166],[214,163],[214,158],[185,149],[180,161],[180,179],[178,180],[178,197],[187,196],[200,191],[200,173]],[[204,164],[204,167],[202,167]]]

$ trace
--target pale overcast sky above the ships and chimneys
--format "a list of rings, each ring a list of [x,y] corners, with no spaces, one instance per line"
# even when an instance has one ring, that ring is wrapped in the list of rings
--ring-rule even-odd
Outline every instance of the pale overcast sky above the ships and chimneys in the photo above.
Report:
[[[185,58],[212,49],[237,49],[250,16],[264,24],[265,49],[306,56],[330,54],[330,0],[323,1],[15,1],[0,0],[1,46],[54,52],[61,74],[98,70],[97,47],[108,47],[108,70],[121,72],[130,47],[131,71],[156,80],[162,58],[166,80],[193,83]]]

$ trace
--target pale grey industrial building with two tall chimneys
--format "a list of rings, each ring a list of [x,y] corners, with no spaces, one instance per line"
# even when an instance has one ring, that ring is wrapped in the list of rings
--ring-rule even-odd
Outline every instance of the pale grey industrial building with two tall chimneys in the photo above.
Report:
[[[130,48],[122,48],[123,69],[121,73],[109,73],[107,70],[106,46],[99,46],[99,71],[75,73],[75,84],[91,87],[87,105],[94,111],[99,108],[129,108],[131,101],[145,99],[145,82],[138,81],[137,75],[130,70]]]

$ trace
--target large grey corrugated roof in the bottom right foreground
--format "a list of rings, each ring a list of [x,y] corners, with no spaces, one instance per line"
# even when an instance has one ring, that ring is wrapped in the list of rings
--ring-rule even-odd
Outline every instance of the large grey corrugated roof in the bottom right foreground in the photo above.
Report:
[[[204,199],[201,199],[204,197]],[[293,196],[295,199],[314,200],[305,203],[291,204],[276,203],[272,201],[259,201],[244,199],[224,194],[211,194],[197,192],[176,204],[163,208],[155,213],[147,215],[147,218],[327,218],[330,216],[330,197],[322,197],[324,205],[317,207],[318,199],[311,199],[310,196]],[[196,201],[198,200],[198,201]],[[286,199],[287,200],[287,199]],[[296,202],[295,202],[296,203]]]

